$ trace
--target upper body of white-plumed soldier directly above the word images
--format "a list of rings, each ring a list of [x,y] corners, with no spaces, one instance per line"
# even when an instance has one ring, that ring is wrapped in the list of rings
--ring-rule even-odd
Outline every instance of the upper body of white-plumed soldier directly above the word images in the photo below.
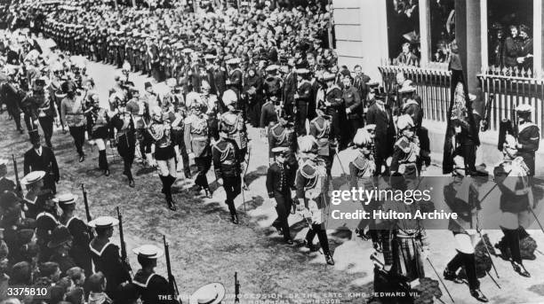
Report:
[[[401,175],[420,175],[417,166],[417,161],[420,158],[420,140],[415,135],[414,127],[410,115],[404,114],[396,121],[400,138],[395,143],[393,160],[391,160],[391,174],[398,172]]]

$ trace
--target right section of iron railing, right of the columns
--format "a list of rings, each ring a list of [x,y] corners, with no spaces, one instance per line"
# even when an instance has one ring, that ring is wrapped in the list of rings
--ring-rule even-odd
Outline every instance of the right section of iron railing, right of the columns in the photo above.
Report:
[[[542,101],[544,100],[544,79],[532,77],[532,71],[491,66],[478,74],[485,100],[491,102],[491,129],[499,129],[500,121],[512,118],[517,105],[532,106],[532,122],[544,129]],[[540,132],[540,137],[544,134]]]

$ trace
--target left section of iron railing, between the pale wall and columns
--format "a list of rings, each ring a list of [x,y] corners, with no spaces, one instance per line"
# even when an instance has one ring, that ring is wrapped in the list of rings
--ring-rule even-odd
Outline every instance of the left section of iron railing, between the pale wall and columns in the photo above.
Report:
[[[447,65],[435,64],[419,67],[385,64],[378,69],[386,88],[391,88],[396,82],[397,73],[404,72],[406,79],[416,84],[417,93],[422,101],[424,117],[432,121],[446,121],[452,80],[452,74],[447,70]]]

